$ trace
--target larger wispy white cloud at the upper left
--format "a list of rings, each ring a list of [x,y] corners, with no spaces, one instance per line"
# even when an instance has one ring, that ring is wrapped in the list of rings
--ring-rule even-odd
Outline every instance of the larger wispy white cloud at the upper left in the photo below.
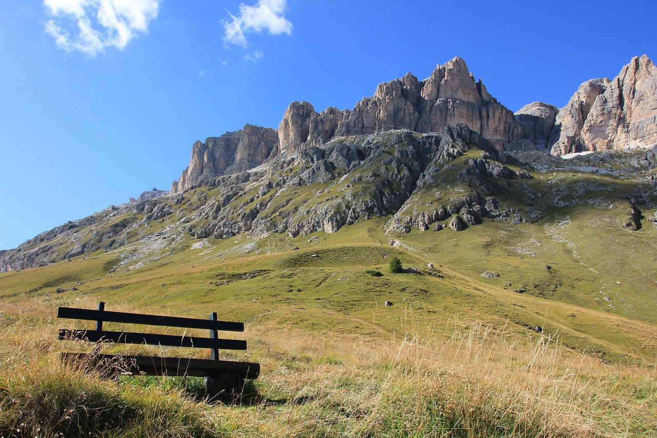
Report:
[[[148,22],[158,15],[162,0],[43,0],[51,15],[73,28],[49,20],[45,32],[67,52],[89,56],[106,47],[123,49],[138,32],[148,32]]]

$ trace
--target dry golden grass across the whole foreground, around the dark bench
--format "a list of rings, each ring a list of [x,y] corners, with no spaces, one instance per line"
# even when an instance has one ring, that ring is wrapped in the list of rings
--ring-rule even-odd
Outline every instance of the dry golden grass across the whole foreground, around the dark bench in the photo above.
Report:
[[[249,351],[233,357],[263,372],[226,405],[194,399],[188,383],[107,381],[59,364],[47,303],[0,303],[0,315],[5,437],[657,436],[654,368],[476,322],[435,337],[409,317],[392,339],[250,327]]]

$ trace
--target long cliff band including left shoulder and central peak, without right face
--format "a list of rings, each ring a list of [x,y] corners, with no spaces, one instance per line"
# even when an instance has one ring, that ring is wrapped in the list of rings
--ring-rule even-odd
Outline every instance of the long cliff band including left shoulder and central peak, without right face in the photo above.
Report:
[[[303,149],[325,145],[336,137],[390,130],[440,133],[457,124],[468,125],[497,149],[535,150],[535,141],[528,140],[524,124],[488,93],[481,80],[476,82],[465,61],[456,57],[443,66],[439,64],[423,81],[407,73],[401,79],[379,84],[374,95],[359,101],[353,110],[329,107],[317,112],[310,103],[292,102],[278,130],[246,125],[238,132],[210,137],[205,143],[196,141],[189,166],[173,182],[171,193],[188,189],[204,178],[254,168],[280,153],[296,157]],[[545,137],[538,143],[542,151],[547,135],[539,135]]]

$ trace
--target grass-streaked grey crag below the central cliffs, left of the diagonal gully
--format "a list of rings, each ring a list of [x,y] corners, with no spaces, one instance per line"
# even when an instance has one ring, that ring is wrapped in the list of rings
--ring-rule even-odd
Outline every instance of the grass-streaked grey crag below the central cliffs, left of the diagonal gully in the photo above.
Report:
[[[284,160],[279,157],[269,170],[208,180],[219,188],[219,195],[198,209],[187,231],[198,238],[225,238],[245,231],[294,237],[333,233],[358,220],[385,216],[413,193],[439,143],[440,135],[399,130],[349,137],[300,150],[287,161],[288,166],[298,167],[293,172],[277,172],[277,163]],[[318,183],[336,187],[330,194],[322,189],[308,198],[307,187]],[[248,195],[246,187],[254,187]]]

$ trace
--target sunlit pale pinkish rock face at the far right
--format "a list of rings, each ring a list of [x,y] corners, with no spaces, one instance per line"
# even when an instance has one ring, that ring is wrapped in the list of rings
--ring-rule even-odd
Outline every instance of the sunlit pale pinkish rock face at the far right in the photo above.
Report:
[[[582,84],[556,118],[553,155],[657,144],[657,68],[643,55],[614,78]]]

